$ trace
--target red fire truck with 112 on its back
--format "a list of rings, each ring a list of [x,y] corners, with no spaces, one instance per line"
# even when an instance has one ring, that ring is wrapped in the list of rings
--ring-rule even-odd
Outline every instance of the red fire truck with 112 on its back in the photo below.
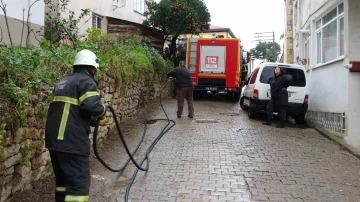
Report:
[[[225,92],[239,100],[241,91],[241,48],[239,39],[190,38],[186,67],[195,85],[194,97],[208,91]]]

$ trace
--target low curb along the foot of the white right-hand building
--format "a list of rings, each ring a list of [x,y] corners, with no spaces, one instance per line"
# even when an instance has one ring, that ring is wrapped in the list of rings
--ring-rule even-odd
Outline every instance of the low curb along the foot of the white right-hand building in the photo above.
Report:
[[[340,138],[334,134],[332,134],[329,131],[326,131],[325,129],[322,129],[314,124],[311,123],[307,123],[307,125],[311,128],[314,128],[317,132],[319,132],[322,136],[328,138],[329,140],[332,140],[336,143],[338,143],[340,146],[342,146],[343,148],[345,148],[349,153],[351,153],[352,155],[354,155],[355,157],[357,157],[358,159],[360,159],[360,149],[349,145],[348,143],[345,142],[345,140],[343,138]]]

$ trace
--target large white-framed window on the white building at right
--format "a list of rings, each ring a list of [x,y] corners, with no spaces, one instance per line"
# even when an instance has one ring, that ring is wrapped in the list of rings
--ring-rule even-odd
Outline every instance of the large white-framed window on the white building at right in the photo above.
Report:
[[[344,55],[344,4],[340,4],[315,23],[316,63],[336,60]]]

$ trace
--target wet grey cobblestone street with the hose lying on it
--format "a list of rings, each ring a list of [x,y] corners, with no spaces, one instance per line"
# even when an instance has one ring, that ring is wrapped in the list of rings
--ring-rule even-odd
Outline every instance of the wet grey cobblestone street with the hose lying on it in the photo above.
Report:
[[[151,153],[150,171],[139,172],[131,201],[360,201],[360,160],[314,129],[263,126],[225,100],[196,101],[194,120],[186,110],[175,118],[174,99],[165,108],[177,124]],[[163,116],[160,107],[154,114]],[[145,144],[162,125],[151,125]],[[123,201],[134,166],[119,175],[92,164],[101,169],[92,171],[91,201]]]

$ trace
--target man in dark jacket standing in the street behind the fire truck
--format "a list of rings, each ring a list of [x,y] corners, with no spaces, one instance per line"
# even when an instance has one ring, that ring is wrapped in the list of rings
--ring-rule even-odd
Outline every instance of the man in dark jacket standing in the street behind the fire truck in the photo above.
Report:
[[[177,98],[178,98],[178,111],[177,117],[181,118],[183,108],[184,108],[184,99],[188,103],[188,117],[194,117],[194,106],[193,106],[193,92],[194,85],[191,81],[191,76],[189,70],[185,67],[185,62],[180,61],[179,67],[175,68],[168,73],[167,77],[173,79],[176,82],[177,86]]]

